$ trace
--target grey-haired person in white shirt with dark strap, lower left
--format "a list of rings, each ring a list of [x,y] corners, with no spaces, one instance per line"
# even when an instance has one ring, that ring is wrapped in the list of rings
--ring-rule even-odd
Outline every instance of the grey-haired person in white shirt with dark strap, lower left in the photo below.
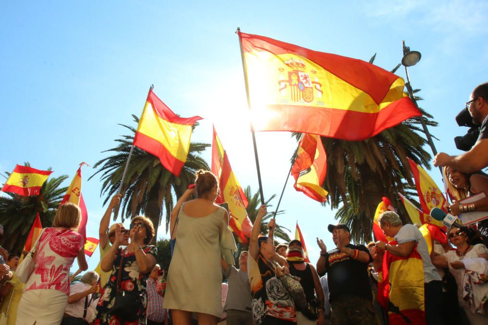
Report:
[[[94,318],[92,295],[98,291],[99,275],[95,271],[88,271],[81,277],[81,282],[70,287],[68,306],[64,310],[61,325],[87,324]],[[85,311],[86,309],[86,311]]]

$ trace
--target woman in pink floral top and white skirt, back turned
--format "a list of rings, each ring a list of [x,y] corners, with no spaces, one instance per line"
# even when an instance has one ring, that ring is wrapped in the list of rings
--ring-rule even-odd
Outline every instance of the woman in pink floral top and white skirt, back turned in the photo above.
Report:
[[[17,325],[59,325],[68,303],[69,269],[78,257],[86,270],[84,238],[73,229],[80,225],[81,210],[76,204],[63,204],[37,243],[35,268],[20,299]]]

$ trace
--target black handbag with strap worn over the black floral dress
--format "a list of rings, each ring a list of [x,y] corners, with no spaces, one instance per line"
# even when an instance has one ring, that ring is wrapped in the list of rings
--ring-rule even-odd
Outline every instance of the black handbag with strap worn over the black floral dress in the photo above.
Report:
[[[112,314],[120,317],[124,321],[135,321],[138,318],[139,306],[141,305],[141,295],[123,290],[121,285],[123,252],[121,252],[121,263],[119,275],[117,276],[117,292],[115,302],[112,307]]]

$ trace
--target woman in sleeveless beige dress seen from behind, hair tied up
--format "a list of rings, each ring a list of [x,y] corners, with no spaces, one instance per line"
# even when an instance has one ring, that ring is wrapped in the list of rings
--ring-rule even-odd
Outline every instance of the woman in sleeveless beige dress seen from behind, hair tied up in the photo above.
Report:
[[[182,204],[176,222],[176,245],[169,266],[163,307],[172,309],[173,323],[215,325],[222,315],[221,257],[234,264],[236,244],[228,229],[227,211],[214,203],[219,182],[211,172],[198,171],[197,198]]]

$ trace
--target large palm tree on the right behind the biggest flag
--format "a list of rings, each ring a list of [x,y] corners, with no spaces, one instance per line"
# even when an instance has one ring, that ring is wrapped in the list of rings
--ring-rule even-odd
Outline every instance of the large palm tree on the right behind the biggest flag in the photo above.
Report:
[[[437,126],[432,115],[421,112],[428,126]],[[414,117],[364,141],[322,137],[327,153],[323,187],[329,192],[328,204],[331,209],[339,208],[335,218],[349,226],[353,241],[371,240],[372,218],[383,196],[400,210],[404,223],[409,222],[398,193],[409,198],[416,195],[407,158],[430,169],[431,155],[424,150],[427,140],[422,133],[420,118]]]

